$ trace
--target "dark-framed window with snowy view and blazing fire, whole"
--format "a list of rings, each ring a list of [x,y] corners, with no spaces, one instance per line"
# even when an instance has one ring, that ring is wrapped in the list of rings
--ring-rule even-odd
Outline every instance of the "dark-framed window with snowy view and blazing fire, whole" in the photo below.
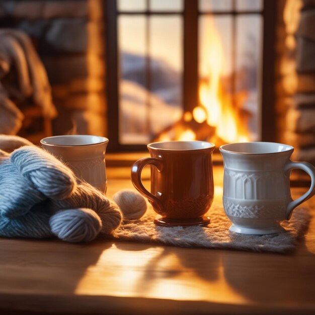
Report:
[[[274,3],[121,0],[105,12],[112,149],[274,140]]]

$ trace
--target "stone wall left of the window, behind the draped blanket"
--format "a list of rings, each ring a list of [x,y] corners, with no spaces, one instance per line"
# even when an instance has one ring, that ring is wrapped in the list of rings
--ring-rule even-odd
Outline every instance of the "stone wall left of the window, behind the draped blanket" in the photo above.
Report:
[[[4,0],[0,26],[31,36],[59,112],[54,134],[105,135],[102,0]]]

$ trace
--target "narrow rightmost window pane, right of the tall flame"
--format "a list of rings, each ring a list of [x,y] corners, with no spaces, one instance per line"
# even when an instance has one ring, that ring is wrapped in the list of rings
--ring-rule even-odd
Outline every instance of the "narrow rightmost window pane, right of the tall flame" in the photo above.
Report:
[[[236,86],[237,105],[248,117],[248,127],[252,140],[261,137],[260,98],[262,18],[259,15],[237,17],[236,47]]]

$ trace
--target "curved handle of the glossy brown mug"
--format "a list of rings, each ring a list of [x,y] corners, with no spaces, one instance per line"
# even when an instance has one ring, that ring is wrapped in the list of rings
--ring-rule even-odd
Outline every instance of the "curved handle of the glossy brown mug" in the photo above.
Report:
[[[163,163],[161,160],[155,159],[154,157],[143,157],[134,163],[131,168],[131,181],[136,190],[141,193],[144,197],[149,199],[157,206],[157,208],[162,211],[163,205],[159,198],[148,192],[141,181],[141,172],[146,165],[152,165],[156,167],[157,171],[161,172],[163,169]]]

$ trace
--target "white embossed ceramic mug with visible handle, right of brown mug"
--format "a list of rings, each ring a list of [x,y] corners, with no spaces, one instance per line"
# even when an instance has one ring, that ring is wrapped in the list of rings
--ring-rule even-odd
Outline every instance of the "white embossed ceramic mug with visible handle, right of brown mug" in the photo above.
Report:
[[[230,230],[245,234],[283,231],[280,222],[315,194],[315,168],[292,162],[294,148],[273,142],[230,143],[220,147],[224,161],[223,207]],[[311,178],[308,191],[292,200],[290,173],[301,169]]]

